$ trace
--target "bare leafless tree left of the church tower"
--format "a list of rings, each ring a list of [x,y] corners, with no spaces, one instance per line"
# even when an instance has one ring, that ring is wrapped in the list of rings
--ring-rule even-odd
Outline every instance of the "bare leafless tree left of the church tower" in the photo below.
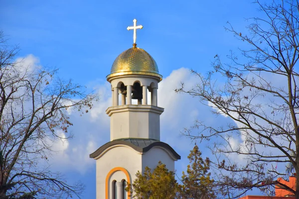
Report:
[[[96,96],[56,70],[16,61],[17,52],[0,32],[0,199],[79,196],[84,186],[68,185],[45,162],[53,141],[65,139],[57,130],[72,125],[67,109],[88,112]]]

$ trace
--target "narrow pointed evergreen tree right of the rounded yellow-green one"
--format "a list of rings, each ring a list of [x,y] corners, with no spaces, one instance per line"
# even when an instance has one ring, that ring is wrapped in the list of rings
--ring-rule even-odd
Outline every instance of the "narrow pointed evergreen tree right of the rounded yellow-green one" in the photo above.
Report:
[[[179,186],[179,195],[182,199],[214,199],[212,190],[213,179],[211,179],[210,160],[201,158],[201,152],[195,145],[188,156],[190,165],[187,166],[187,173],[182,174],[182,185]]]

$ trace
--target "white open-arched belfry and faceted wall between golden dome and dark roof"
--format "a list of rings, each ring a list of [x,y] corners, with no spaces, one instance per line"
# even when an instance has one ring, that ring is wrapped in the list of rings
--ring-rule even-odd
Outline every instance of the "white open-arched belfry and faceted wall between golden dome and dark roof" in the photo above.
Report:
[[[158,107],[156,102],[158,80],[157,77],[146,75],[119,76],[111,80],[113,105],[106,110],[111,117],[110,140],[129,137],[160,140],[160,114],[164,109]],[[144,98],[142,104],[138,105],[131,103],[131,95],[128,94],[128,87],[132,90],[136,82],[143,88]],[[127,87],[127,95],[121,94],[122,84]],[[147,101],[148,92],[150,102]],[[120,101],[119,95],[122,96]]]

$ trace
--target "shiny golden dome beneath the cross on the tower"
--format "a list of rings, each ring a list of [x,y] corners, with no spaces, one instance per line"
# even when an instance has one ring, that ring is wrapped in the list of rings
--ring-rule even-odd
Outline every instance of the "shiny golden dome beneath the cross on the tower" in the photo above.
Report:
[[[159,70],[154,59],[147,51],[141,48],[133,47],[122,52],[113,62],[111,67],[111,74],[107,76],[110,78],[121,75],[150,75],[158,77],[160,80],[162,76],[159,75]]]

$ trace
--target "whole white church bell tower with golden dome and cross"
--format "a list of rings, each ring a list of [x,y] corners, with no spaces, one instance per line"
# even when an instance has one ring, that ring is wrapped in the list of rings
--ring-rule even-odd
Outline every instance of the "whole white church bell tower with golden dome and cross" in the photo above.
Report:
[[[125,191],[133,183],[135,174],[145,167],[155,168],[161,161],[170,171],[180,156],[160,141],[160,114],[157,104],[158,83],[162,80],[154,59],[136,44],[122,52],[114,61],[107,81],[112,89],[110,142],[104,144],[90,158],[96,160],[97,199],[130,199]]]

